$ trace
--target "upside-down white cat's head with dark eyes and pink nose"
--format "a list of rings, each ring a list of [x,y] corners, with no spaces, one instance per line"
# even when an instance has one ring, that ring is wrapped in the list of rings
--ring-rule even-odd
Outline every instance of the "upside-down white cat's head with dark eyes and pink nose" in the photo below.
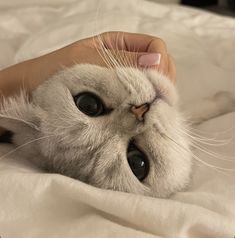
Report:
[[[49,172],[156,197],[189,182],[176,90],[155,70],[75,65],[39,86],[30,102],[21,96],[14,103],[5,127],[17,145],[34,140],[22,148]]]

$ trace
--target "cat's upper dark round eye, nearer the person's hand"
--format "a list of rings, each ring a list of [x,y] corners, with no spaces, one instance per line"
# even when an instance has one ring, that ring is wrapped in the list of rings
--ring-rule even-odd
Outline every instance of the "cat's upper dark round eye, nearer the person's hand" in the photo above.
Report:
[[[103,103],[92,93],[83,93],[76,96],[75,103],[78,109],[88,116],[99,116],[104,111]]]

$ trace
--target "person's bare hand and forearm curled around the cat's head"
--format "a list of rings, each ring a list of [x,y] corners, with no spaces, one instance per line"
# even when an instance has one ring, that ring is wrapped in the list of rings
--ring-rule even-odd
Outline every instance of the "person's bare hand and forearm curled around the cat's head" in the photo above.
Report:
[[[159,64],[145,65],[154,68],[175,82],[176,70],[172,57],[167,53],[166,44],[160,38],[123,32],[106,32],[100,35],[106,49],[115,57],[125,59],[130,65],[138,66],[142,55],[160,54]],[[17,94],[22,88],[30,95],[38,85],[51,75],[74,64],[95,64],[108,67],[101,57],[98,36],[79,40],[64,48],[10,66],[0,71],[0,93],[4,97]],[[117,59],[119,60],[119,59]],[[140,66],[141,68],[141,66]]]

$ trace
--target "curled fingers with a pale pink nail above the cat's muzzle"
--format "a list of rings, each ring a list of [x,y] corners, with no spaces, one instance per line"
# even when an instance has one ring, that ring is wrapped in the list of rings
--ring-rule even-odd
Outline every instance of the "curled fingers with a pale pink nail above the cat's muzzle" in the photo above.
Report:
[[[113,53],[114,59],[123,63],[123,66],[153,68],[175,81],[174,61],[167,53],[165,42],[160,38],[128,32],[105,32],[90,40],[95,48],[105,48],[106,52]],[[109,61],[110,57],[104,58]]]

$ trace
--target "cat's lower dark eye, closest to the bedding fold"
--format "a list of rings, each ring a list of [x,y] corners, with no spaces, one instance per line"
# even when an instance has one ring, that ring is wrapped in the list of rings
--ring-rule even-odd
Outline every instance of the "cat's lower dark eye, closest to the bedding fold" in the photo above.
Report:
[[[133,174],[142,181],[149,171],[149,165],[144,153],[138,150],[137,147],[129,147],[127,152],[127,159]]]

